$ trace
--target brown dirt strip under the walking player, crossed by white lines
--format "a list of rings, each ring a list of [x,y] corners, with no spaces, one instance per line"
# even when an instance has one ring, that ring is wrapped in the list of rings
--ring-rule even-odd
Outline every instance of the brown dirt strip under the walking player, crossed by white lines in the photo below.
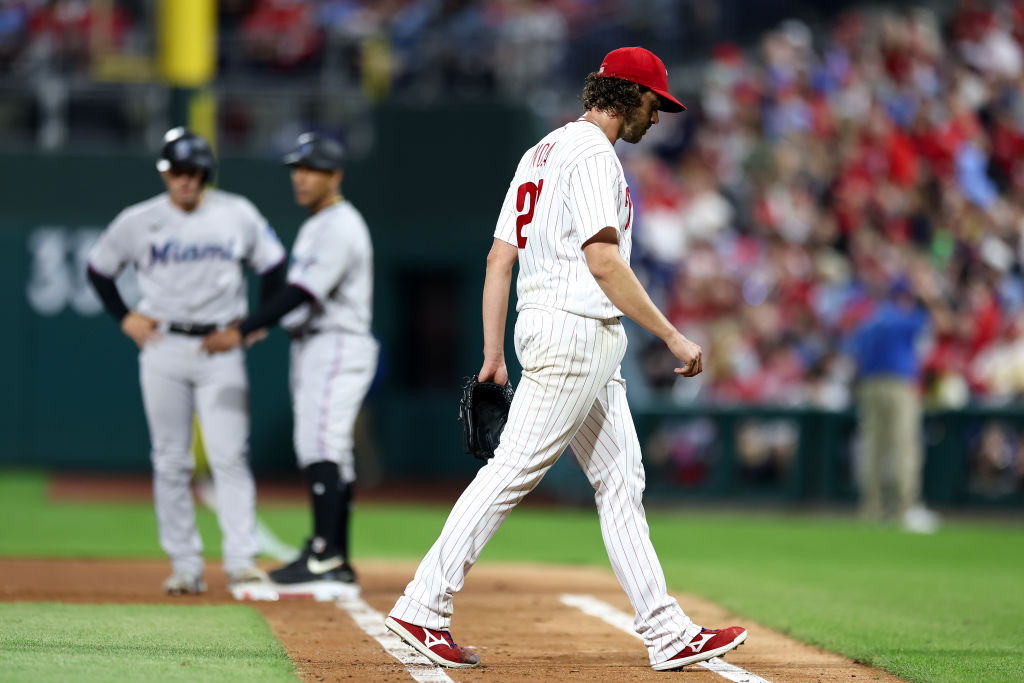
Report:
[[[412,578],[408,562],[360,562],[364,599],[386,613]],[[162,561],[0,559],[0,601],[70,603],[233,604],[223,572],[211,566],[203,596],[171,598],[160,592]],[[478,669],[449,671],[454,681],[686,681],[725,679],[693,665],[658,673],[641,641],[601,620],[562,604],[564,593],[587,594],[632,614],[610,572],[587,567],[482,563],[456,598],[456,641],[477,648]],[[769,629],[687,595],[686,612],[712,628],[738,624],[748,641],[725,660],[770,681],[897,681],[899,679]],[[284,643],[305,681],[411,681],[388,654],[333,603],[306,600],[245,603],[258,609]]]

